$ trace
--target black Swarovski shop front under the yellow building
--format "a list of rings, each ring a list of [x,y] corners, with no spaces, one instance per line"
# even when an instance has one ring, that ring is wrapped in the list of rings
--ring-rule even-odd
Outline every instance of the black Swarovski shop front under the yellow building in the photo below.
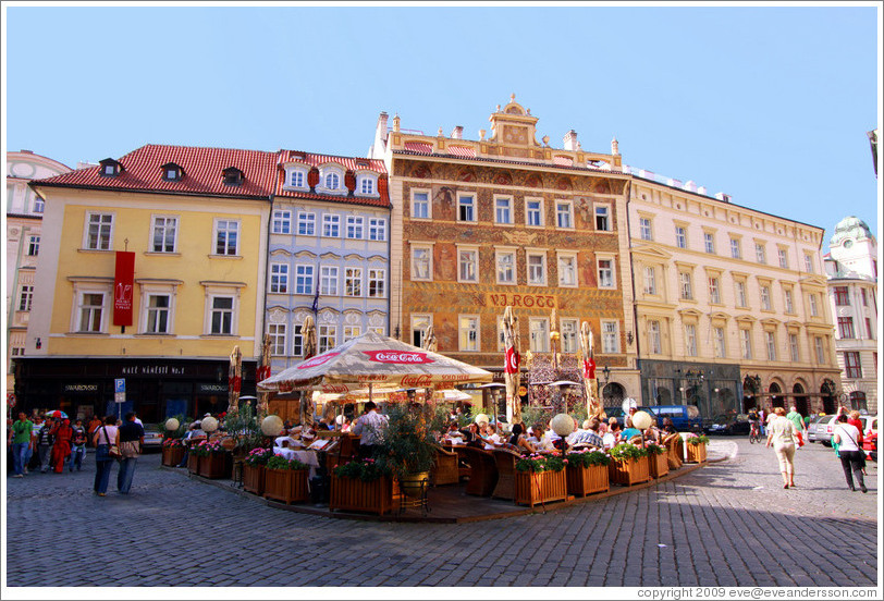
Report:
[[[72,418],[135,410],[145,424],[228,408],[230,359],[34,357],[16,359],[15,393],[27,412],[61,409]],[[255,395],[257,363],[243,360],[242,395]],[[116,380],[125,400],[116,402]]]

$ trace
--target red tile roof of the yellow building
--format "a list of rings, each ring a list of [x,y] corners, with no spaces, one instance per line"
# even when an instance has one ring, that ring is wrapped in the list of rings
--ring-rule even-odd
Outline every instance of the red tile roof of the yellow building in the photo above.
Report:
[[[123,171],[115,177],[100,174],[100,167],[89,167],[54,177],[36,180],[34,185],[86,187],[131,192],[159,192],[204,196],[269,198],[277,175],[277,152],[201,148],[148,144],[119,159]],[[162,179],[161,165],[174,162],[184,170],[181,181]],[[242,185],[223,182],[223,170],[235,167],[243,171]]]

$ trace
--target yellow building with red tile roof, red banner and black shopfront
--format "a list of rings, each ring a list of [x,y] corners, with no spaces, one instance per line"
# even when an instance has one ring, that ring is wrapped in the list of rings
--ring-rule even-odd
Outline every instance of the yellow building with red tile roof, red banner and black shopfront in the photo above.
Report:
[[[22,405],[134,407],[144,421],[222,412],[235,345],[254,391],[275,160],[150,145],[33,182],[46,210]]]

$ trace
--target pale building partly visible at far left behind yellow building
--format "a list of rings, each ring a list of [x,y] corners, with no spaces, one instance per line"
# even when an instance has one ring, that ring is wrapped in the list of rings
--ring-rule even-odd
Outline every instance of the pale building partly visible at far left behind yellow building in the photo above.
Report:
[[[34,303],[34,274],[40,250],[44,200],[27,187],[32,180],[71,171],[30,150],[7,154],[7,390],[15,387],[12,359],[25,354]]]

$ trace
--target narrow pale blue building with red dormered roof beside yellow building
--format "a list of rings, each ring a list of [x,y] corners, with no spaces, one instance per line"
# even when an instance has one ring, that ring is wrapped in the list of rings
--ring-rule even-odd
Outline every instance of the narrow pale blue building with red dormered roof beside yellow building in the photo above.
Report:
[[[308,315],[320,353],[368,331],[390,331],[383,161],[282,150],[277,174],[266,317],[274,373],[303,360]]]

